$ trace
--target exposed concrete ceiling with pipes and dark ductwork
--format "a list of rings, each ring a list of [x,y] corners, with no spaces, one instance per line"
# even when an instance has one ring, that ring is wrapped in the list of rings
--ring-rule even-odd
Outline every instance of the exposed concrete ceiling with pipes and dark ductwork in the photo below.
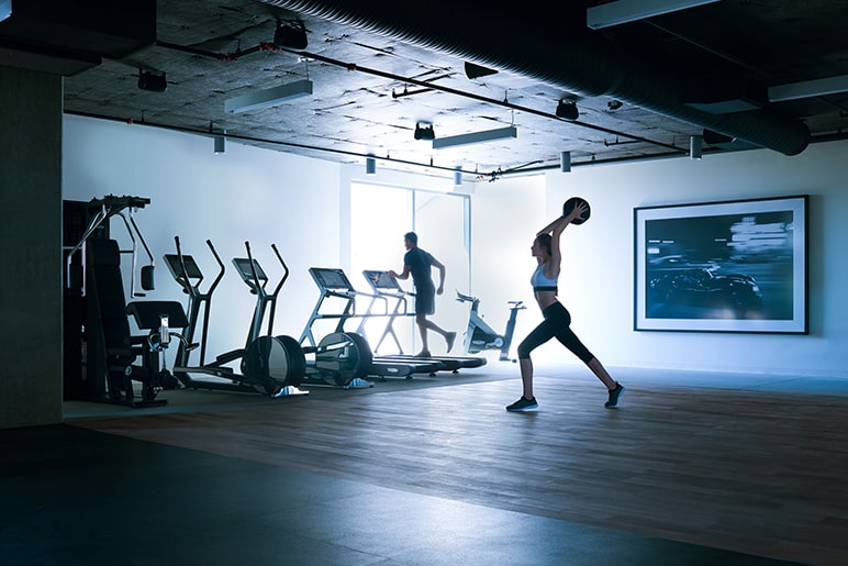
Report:
[[[848,129],[844,0],[723,0],[591,30],[587,8],[599,3],[159,0],[155,43],[67,76],[65,110],[490,180],[558,169],[561,152],[574,167],[687,156],[693,135],[705,157],[796,155]],[[275,44],[278,21],[302,22],[305,48]],[[496,73],[469,78],[467,62]],[[140,70],[164,73],[167,88],[140,89]],[[304,79],[311,96],[225,111],[227,99]],[[562,99],[577,120],[556,115]],[[510,125],[517,137],[434,149],[416,123],[437,140]]]

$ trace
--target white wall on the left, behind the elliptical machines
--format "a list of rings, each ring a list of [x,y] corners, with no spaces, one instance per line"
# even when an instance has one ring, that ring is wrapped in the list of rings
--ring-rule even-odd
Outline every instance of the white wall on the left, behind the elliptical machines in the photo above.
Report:
[[[227,268],[212,299],[213,355],[244,346],[255,304],[232,258],[246,257],[249,241],[271,279],[270,290],[282,274],[270,248],[275,243],[291,275],[280,292],[274,330],[298,339],[319,295],[309,267],[339,264],[338,167],[233,142],[223,155],[212,147],[203,136],[65,116],[63,197],[150,198],[135,215],[156,258],[156,290],[147,299],[186,304],[161,260],[175,253],[176,235],[183,253],[200,264],[205,289],[217,269],[205,245],[212,241]],[[120,220],[112,221],[112,231],[123,241]],[[125,273],[125,286],[127,278]]]

